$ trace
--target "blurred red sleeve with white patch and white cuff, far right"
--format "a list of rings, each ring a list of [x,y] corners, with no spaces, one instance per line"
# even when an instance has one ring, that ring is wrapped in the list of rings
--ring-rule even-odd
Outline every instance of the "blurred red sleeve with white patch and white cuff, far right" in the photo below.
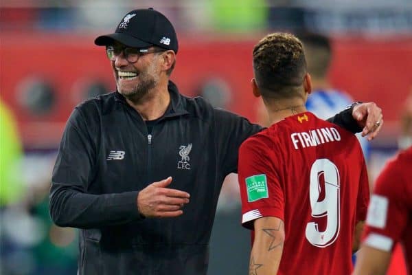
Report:
[[[378,250],[391,251],[409,220],[405,172],[392,162],[382,171],[371,196],[363,242]]]

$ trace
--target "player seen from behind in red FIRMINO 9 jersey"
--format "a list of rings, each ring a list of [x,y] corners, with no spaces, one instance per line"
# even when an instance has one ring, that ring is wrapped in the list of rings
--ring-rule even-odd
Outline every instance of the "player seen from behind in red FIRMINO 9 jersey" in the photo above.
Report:
[[[282,32],[253,49],[253,95],[273,124],[239,150],[242,225],[253,230],[249,274],[347,275],[358,249],[365,159],[352,133],[306,110],[305,56],[301,41]]]

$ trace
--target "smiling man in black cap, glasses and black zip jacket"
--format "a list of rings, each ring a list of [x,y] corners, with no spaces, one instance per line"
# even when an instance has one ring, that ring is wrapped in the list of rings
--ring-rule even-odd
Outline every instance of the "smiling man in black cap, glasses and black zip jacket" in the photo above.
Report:
[[[237,170],[240,144],[262,128],[179,94],[169,80],[176,33],[160,12],[133,10],[95,43],[106,47],[117,90],[71,114],[53,171],[52,219],[81,229],[79,274],[206,274],[222,181]],[[358,131],[352,113],[373,138],[382,124],[376,104],[331,121]]]

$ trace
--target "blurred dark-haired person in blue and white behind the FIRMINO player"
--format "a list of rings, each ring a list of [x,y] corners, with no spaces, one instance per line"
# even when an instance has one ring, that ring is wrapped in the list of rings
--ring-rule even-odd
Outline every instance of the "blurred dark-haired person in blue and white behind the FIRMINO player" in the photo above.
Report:
[[[305,33],[299,35],[299,39],[304,43],[308,72],[313,83],[313,91],[306,102],[306,109],[317,115],[318,118],[325,120],[354,100],[345,91],[334,89],[328,80],[333,55],[328,36]],[[362,135],[357,135],[357,137],[367,160],[369,159],[369,143]]]

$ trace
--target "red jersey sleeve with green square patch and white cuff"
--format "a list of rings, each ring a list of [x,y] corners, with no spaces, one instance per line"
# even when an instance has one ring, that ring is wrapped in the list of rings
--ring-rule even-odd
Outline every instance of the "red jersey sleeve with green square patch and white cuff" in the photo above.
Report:
[[[275,170],[275,154],[262,136],[246,140],[239,151],[239,185],[242,199],[242,225],[253,229],[260,217],[284,220],[284,192]]]

